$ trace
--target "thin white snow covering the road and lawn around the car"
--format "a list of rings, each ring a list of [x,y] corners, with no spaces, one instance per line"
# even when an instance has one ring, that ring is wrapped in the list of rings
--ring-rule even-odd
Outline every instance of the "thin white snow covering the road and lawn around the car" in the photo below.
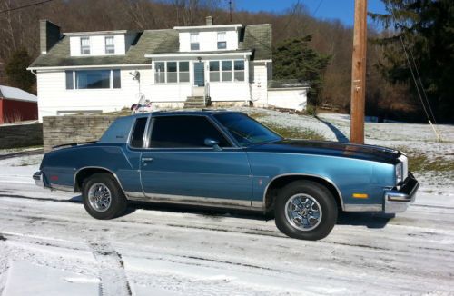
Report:
[[[334,115],[321,120],[336,129],[259,112],[327,139],[348,132]],[[425,125],[395,124],[368,123],[366,142],[449,158],[452,138],[436,143]],[[454,134],[452,126],[440,129]],[[305,242],[248,212],[134,204],[123,217],[97,221],[78,194],[35,186],[41,157],[0,160],[3,296],[454,294],[454,184],[446,172],[417,174],[421,188],[407,212],[342,213],[326,239]]]

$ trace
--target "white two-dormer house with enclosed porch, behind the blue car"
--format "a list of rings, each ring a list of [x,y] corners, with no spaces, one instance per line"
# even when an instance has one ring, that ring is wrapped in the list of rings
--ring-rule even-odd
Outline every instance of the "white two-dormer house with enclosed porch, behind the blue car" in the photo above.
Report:
[[[40,45],[28,68],[37,77],[40,120],[116,111],[141,95],[162,108],[268,104],[269,24],[213,25],[209,16],[206,25],[61,34],[42,20]]]

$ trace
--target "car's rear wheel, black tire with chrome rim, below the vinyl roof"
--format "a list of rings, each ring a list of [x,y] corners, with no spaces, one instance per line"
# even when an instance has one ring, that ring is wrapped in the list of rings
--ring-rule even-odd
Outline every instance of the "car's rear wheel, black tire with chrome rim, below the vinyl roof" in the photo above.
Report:
[[[82,188],[84,208],[92,217],[113,219],[126,210],[128,201],[112,174],[94,173],[84,180]]]

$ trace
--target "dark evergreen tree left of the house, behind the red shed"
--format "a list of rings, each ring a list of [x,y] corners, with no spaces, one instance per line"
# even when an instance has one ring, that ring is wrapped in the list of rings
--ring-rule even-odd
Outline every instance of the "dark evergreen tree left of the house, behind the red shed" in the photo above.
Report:
[[[35,75],[27,71],[27,67],[32,63],[32,58],[25,50],[19,49],[11,54],[5,64],[5,73],[11,86],[15,86],[32,93],[35,84]]]

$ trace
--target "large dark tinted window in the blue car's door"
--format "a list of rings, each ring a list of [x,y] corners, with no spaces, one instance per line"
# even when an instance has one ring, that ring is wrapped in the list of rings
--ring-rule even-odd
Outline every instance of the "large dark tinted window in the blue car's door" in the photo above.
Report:
[[[207,148],[205,139],[232,145],[204,116],[162,116],[153,118],[150,148]]]

